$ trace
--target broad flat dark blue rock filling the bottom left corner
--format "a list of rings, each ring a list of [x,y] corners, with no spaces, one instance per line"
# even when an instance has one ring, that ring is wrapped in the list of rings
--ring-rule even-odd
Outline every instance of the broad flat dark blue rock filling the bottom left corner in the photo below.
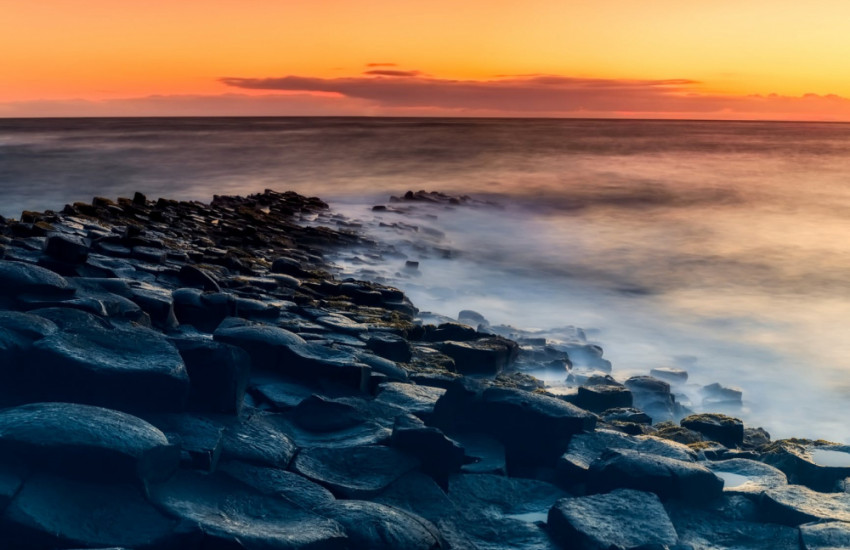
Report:
[[[87,483],[36,475],[0,523],[7,548],[127,547],[180,550],[196,540],[127,484]]]

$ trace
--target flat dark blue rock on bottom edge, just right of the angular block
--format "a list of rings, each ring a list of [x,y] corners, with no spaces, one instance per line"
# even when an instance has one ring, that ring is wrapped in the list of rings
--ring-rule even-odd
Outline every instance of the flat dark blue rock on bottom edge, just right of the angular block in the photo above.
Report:
[[[687,548],[799,550],[800,533],[797,529],[761,523],[750,515],[751,506],[749,501],[739,496],[724,498],[708,508],[671,503],[667,505],[667,513],[679,534],[679,543],[687,545]]]

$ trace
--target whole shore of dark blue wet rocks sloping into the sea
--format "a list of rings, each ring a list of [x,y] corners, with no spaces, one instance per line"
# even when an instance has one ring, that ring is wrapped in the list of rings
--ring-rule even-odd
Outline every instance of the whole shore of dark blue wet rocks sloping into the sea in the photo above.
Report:
[[[423,201],[471,199],[375,210]],[[850,547],[850,447],[333,275],[376,246],[273,191],[0,218],[0,547]]]

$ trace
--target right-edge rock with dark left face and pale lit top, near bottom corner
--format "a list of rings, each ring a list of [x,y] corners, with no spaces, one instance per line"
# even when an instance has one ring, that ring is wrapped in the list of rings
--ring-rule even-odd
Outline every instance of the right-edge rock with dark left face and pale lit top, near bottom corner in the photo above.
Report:
[[[802,485],[768,489],[759,499],[764,521],[800,525],[812,521],[850,521],[850,494],[818,493]]]

